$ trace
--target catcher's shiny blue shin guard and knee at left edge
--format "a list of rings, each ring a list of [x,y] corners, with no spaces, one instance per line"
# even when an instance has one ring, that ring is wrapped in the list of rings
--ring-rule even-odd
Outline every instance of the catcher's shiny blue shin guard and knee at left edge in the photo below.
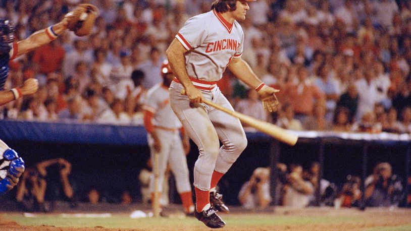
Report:
[[[0,159],[0,196],[12,190],[24,172],[24,161],[17,152],[7,149]]]

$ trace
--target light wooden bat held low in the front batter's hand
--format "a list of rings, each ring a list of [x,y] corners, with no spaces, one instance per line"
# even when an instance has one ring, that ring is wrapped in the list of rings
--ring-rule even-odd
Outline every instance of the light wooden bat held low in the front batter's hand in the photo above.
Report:
[[[297,142],[298,136],[289,133],[287,130],[280,128],[278,126],[275,126],[273,124],[270,124],[268,122],[264,122],[261,120],[257,120],[255,118],[249,117],[248,115],[245,115],[243,113],[237,112],[237,111],[232,111],[229,110],[223,106],[220,106],[218,104],[215,104],[209,100],[203,100],[203,103],[206,103],[207,105],[210,105],[212,107],[215,107],[219,110],[222,110],[226,112],[227,114],[232,115],[235,118],[238,118],[241,122],[261,131],[264,132],[267,135],[270,135],[277,140],[284,142],[288,145],[294,146],[295,143]]]

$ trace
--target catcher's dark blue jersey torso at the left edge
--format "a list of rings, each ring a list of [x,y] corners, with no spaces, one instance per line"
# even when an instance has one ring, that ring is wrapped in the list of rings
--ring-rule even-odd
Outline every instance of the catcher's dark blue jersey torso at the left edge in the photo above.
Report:
[[[9,75],[10,50],[14,40],[14,27],[9,20],[0,19],[0,91]]]

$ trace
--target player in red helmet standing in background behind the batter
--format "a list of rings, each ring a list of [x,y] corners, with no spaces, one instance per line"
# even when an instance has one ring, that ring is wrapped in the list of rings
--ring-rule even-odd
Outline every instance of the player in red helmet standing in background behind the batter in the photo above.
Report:
[[[194,205],[186,159],[190,145],[184,130],[182,130],[183,139],[181,139],[179,133],[182,128],[181,123],[170,107],[168,89],[175,77],[167,60],[164,61],[161,71],[163,83],[157,84],[148,90],[143,106],[144,127],[148,133],[147,140],[151,159],[155,159],[155,155],[158,155],[158,165],[153,166],[153,172],[157,171],[158,174],[157,192],[155,192],[155,177],[151,177],[149,188],[153,195],[153,202],[155,199],[153,198],[154,194],[159,195],[162,192],[161,186],[163,185],[167,164],[170,164],[184,212],[191,215],[194,212]],[[153,204],[153,210],[155,209],[156,205]]]

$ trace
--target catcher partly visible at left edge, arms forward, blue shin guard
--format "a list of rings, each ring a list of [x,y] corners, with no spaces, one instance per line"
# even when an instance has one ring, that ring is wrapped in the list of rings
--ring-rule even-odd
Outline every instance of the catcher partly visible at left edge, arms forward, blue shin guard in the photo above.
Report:
[[[9,20],[0,19],[0,106],[38,89],[36,79],[28,79],[22,87],[4,90],[9,75],[9,61],[56,39],[67,28],[67,19],[34,32],[28,38],[14,41],[14,27]],[[13,189],[24,171],[24,161],[17,152],[0,140],[0,196]]]

